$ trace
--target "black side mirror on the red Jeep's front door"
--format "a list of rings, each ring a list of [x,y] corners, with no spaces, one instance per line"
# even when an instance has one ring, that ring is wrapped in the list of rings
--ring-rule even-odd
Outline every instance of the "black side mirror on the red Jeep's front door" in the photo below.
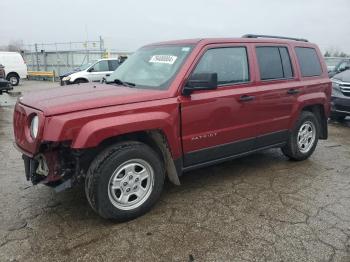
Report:
[[[193,74],[188,79],[182,94],[190,95],[195,90],[214,90],[218,87],[217,73]]]

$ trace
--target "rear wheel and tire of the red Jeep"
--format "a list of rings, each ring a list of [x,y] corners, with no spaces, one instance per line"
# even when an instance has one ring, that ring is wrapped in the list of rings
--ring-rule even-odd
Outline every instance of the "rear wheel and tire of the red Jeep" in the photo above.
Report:
[[[302,111],[287,144],[282,147],[283,154],[295,161],[309,158],[315,151],[319,134],[320,125],[316,116],[309,111]]]

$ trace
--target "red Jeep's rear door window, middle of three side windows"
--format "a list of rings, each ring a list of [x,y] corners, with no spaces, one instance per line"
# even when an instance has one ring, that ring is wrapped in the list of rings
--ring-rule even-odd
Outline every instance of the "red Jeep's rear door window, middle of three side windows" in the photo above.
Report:
[[[286,47],[261,46],[256,48],[261,80],[293,77],[290,56]]]

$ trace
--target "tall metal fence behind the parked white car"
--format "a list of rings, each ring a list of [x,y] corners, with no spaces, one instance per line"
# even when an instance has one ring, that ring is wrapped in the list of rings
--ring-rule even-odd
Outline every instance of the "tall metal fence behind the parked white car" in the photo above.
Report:
[[[130,54],[106,49],[102,38],[98,41],[25,45],[22,49],[29,71],[54,71],[56,76],[93,60]]]

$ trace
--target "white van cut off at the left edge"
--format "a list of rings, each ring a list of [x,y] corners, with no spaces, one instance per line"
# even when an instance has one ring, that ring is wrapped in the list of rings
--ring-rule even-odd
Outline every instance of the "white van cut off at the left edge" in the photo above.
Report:
[[[0,64],[5,67],[6,79],[13,86],[17,86],[21,78],[27,77],[27,65],[20,53],[0,52]]]

